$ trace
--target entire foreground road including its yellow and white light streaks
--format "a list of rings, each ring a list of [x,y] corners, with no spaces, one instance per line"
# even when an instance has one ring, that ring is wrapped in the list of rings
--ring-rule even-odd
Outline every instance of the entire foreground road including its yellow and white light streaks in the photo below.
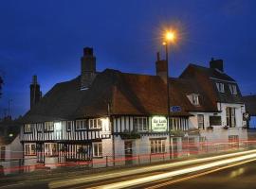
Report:
[[[119,169],[57,180],[25,180],[4,188],[256,188],[256,150],[177,163]]]

